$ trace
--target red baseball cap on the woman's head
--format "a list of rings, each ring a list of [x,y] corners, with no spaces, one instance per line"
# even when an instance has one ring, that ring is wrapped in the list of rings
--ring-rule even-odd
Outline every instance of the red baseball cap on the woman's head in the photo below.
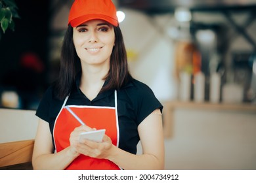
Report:
[[[77,27],[83,22],[100,19],[117,26],[116,7],[111,0],[75,0],[68,16],[68,25]]]

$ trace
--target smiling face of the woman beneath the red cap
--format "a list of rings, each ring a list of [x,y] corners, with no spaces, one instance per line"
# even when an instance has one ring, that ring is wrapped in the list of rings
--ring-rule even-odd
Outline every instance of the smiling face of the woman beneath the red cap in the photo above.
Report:
[[[113,25],[90,20],[74,27],[73,41],[81,64],[109,65],[115,42]]]

